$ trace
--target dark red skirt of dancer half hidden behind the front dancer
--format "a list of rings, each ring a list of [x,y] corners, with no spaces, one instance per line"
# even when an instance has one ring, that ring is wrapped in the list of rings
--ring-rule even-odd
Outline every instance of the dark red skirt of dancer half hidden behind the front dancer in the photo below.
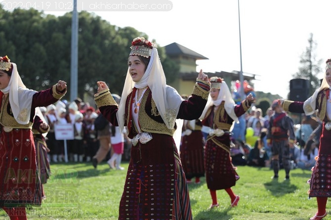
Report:
[[[180,160],[187,179],[205,176],[204,141],[200,130],[183,136]]]

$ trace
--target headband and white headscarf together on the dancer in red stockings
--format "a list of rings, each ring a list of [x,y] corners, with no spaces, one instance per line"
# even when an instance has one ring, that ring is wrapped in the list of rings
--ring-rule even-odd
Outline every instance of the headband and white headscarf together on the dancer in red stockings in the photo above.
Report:
[[[238,117],[234,110],[234,106],[236,103],[232,98],[232,94],[230,93],[229,87],[226,82],[222,78],[217,76],[210,77],[209,82],[211,84],[210,88],[219,89],[219,93],[216,100],[212,100],[209,94],[206,107],[200,119],[204,119],[206,117],[207,111],[211,106],[218,106],[222,103],[222,101],[224,101],[224,108],[226,113],[233,119],[233,121],[238,122]]]

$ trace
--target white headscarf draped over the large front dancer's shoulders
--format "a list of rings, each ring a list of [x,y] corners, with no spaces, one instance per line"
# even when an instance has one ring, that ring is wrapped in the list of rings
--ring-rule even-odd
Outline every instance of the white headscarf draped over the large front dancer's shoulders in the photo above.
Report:
[[[121,95],[122,98],[117,112],[117,120],[121,130],[124,129],[124,113],[127,95],[132,92],[133,87],[141,89],[146,86],[149,86],[152,91],[152,98],[165,122],[165,125],[168,129],[173,129],[179,106],[184,99],[174,88],[166,85],[165,72],[163,71],[158,50],[153,48],[150,62],[139,82],[133,82],[129,73],[129,68],[127,69],[124,88]]]

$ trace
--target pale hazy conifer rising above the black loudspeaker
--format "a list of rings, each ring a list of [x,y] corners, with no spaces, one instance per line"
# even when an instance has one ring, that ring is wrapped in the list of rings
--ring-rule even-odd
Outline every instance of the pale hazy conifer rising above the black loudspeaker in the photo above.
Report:
[[[294,78],[306,78],[310,81],[309,96],[320,86],[317,75],[322,71],[320,67],[322,60],[316,60],[316,47],[317,43],[313,40],[313,34],[310,33],[306,51],[300,57],[299,71],[293,74]]]

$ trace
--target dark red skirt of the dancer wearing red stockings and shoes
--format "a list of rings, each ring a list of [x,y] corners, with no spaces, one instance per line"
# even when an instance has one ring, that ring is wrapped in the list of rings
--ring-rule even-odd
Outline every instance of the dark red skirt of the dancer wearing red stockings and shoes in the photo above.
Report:
[[[230,145],[230,140],[228,142]],[[232,166],[230,153],[212,140],[207,141],[205,148],[205,170],[207,187],[211,190],[231,188],[239,179]]]

